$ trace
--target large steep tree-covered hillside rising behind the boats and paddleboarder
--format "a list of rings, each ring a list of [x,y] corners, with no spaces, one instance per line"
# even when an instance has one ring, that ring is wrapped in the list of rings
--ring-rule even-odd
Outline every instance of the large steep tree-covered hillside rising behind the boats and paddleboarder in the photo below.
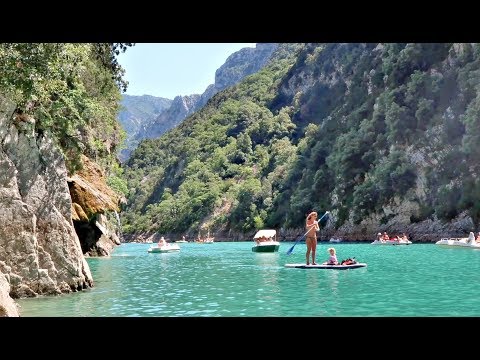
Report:
[[[126,166],[126,232],[480,219],[480,46],[283,44]],[[409,204],[406,211],[406,204]]]

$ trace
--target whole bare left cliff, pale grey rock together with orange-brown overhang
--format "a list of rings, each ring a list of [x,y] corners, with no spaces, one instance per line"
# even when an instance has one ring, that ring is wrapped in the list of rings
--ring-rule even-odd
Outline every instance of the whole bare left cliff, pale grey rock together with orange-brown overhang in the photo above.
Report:
[[[83,157],[69,177],[48,133],[13,113],[0,96],[0,316],[18,315],[12,298],[93,286],[83,253],[108,255],[120,243],[107,218],[117,222],[109,214],[120,199],[100,168]]]

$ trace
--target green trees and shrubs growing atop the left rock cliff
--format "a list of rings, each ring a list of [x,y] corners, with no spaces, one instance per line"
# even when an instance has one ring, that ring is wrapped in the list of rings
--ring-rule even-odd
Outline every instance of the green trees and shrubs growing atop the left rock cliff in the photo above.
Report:
[[[53,135],[71,173],[82,154],[121,172],[116,148],[125,135],[117,114],[127,83],[116,56],[130,45],[0,44],[0,93],[17,104],[18,124]]]

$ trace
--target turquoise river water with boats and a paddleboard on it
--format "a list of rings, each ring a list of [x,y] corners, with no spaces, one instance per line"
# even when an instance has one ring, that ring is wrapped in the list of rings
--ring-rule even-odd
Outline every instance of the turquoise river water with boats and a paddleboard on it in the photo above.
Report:
[[[480,250],[433,244],[335,244],[339,260],[366,268],[287,269],[305,261],[305,244],[254,253],[251,242],[180,244],[147,253],[122,244],[110,258],[88,258],[95,287],[19,300],[21,316],[315,317],[480,316]],[[328,259],[320,243],[317,262]]]

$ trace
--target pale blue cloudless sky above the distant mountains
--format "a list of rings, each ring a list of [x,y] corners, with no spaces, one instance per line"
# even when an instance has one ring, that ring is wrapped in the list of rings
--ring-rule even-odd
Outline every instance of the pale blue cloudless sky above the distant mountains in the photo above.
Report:
[[[129,82],[126,94],[173,99],[201,94],[228,56],[252,43],[137,43],[118,56]]]

